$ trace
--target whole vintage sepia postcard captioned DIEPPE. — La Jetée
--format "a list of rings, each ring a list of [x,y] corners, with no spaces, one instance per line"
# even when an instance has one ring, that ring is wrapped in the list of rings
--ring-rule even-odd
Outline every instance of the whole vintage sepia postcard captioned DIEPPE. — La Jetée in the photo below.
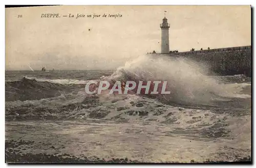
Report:
[[[5,12],[6,163],[251,162],[251,6]]]

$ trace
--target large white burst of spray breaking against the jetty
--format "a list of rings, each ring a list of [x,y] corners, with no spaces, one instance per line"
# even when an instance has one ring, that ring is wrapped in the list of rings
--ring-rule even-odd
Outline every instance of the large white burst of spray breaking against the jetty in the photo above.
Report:
[[[210,104],[218,98],[249,98],[239,94],[248,83],[229,84],[218,76],[207,76],[208,68],[185,58],[141,56],[102,80],[115,81],[167,81],[166,90],[171,93],[159,94],[157,98],[167,102],[188,104]],[[233,76],[243,78],[243,76]],[[245,78],[245,77],[244,77]],[[244,81],[244,80],[242,80]],[[152,96],[152,95],[151,95]]]

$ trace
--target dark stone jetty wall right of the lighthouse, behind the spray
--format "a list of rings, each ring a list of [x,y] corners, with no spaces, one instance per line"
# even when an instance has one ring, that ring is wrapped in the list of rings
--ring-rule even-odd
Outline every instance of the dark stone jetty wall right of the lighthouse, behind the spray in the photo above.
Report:
[[[170,53],[204,62],[219,75],[244,74],[251,77],[251,46]]]

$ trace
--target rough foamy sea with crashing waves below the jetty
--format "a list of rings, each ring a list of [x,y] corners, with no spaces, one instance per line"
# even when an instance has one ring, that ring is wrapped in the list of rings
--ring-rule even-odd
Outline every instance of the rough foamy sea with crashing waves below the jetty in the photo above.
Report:
[[[209,69],[142,55],[112,70],[6,71],[6,140],[34,140],[24,153],[141,162],[250,158],[251,78]],[[92,96],[92,80],[167,81],[170,94]]]

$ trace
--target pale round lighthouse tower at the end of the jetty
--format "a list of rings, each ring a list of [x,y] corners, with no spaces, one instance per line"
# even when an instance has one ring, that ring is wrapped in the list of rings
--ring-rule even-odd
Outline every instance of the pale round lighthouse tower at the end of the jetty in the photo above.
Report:
[[[160,24],[162,30],[161,53],[169,53],[169,28],[170,25],[164,17],[163,22]]]

